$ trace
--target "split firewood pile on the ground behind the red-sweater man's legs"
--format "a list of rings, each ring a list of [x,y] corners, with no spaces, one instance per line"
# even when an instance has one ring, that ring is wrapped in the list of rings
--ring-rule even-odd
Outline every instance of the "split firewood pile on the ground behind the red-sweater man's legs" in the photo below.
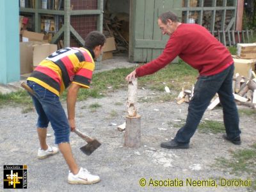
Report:
[[[177,97],[177,104],[182,104],[183,102],[189,102],[193,97],[194,86],[191,90],[184,90],[179,93]],[[233,78],[233,95],[235,97],[237,105],[248,106],[250,108],[256,109],[256,75],[252,71],[252,78],[248,79],[246,77],[240,76],[238,73]],[[220,99],[218,93],[211,100],[208,109],[214,109],[218,104],[220,104]]]

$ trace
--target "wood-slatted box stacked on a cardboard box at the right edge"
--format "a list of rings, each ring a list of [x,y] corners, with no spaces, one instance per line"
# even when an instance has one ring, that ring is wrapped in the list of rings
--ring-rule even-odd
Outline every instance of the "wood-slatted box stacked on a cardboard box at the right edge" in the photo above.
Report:
[[[256,59],[256,44],[237,44],[237,56],[243,59]]]

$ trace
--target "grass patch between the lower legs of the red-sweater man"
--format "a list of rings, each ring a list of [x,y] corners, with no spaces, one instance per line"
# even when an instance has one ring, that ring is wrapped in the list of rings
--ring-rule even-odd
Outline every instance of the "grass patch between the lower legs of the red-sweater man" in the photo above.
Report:
[[[223,122],[204,120],[198,125],[198,131],[202,133],[212,133],[217,134],[220,132],[225,132],[225,126]]]

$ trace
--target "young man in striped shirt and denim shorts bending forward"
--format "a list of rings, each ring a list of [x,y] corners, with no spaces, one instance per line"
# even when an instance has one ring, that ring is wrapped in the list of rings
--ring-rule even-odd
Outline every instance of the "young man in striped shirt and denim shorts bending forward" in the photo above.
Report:
[[[69,143],[70,130],[76,131],[75,104],[79,88],[90,88],[94,59],[102,52],[106,37],[99,31],[90,32],[84,39],[84,47],[66,47],[60,49],[41,61],[28,77],[28,86],[33,104],[38,113],[37,132],[40,142],[38,159],[45,159],[58,153],[58,148],[68,164],[68,183],[93,184],[100,177],[88,170],[79,168],[72,155]],[[68,88],[67,112],[65,114],[60,102],[60,94]],[[46,143],[49,122],[54,130],[55,143],[58,148]]]

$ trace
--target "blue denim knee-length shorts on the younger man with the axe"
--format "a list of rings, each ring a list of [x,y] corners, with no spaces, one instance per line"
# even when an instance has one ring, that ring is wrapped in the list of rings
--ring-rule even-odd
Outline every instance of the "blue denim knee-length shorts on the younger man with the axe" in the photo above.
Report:
[[[28,86],[35,92],[35,96],[31,95],[31,97],[38,114],[37,127],[47,128],[51,122],[55,144],[69,143],[70,126],[61,106],[60,97],[33,81],[28,81]]]

